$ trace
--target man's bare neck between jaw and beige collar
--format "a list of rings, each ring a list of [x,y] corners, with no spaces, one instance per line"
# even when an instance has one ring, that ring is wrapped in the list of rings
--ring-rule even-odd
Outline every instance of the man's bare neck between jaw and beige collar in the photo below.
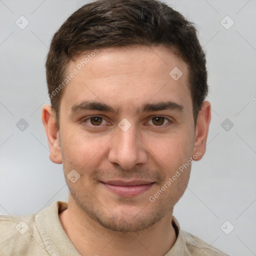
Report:
[[[171,224],[172,210],[145,230],[121,233],[109,230],[84,212],[72,200],[59,214],[61,225],[69,240],[81,255],[165,255],[176,240]]]

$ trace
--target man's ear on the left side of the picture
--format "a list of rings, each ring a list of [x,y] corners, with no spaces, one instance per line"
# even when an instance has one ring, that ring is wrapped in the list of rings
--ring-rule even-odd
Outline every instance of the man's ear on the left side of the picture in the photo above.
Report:
[[[62,163],[62,155],[59,143],[59,131],[55,122],[54,112],[50,105],[44,105],[42,107],[41,119],[44,125],[50,149],[49,158],[54,163]]]

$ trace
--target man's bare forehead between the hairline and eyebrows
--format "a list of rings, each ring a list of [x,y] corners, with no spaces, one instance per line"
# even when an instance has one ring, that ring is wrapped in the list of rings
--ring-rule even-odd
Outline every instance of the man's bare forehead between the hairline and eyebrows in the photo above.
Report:
[[[62,96],[69,108],[92,98],[122,105],[190,96],[187,64],[164,46],[94,49],[68,63],[66,74],[72,72]]]

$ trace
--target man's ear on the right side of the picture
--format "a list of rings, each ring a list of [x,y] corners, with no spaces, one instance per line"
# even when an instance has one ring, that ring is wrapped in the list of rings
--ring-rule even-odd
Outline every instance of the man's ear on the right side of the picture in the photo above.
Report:
[[[199,111],[197,116],[195,137],[194,137],[193,155],[196,154],[198,156],[196,159],[194,159],[196,161],[202,158],[206,150],[206,141],[208,136],[210,118],[211,118],[210,102],[203,101],[202,108]]]

